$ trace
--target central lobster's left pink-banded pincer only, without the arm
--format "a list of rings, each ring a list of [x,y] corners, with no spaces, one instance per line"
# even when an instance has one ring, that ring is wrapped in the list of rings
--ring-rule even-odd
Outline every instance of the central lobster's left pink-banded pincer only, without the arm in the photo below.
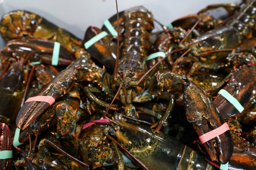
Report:
[[[91,61],[86,58],[78,58],[74,60],[67,69],[60,72],[50,83],[45,85],[36,96],[51,96],[56,100],[64,95],[71,89],[79,77],[79,70],[77,70],[75,66],[82,63],[91,64]],[[31,101],[25,103],[18,112],[16,118],[17,127],[25,130],[26,127],[32,124],[32,122],[35,121],[35,119],[48,107],[50,107],[50,104],[47,102]]]

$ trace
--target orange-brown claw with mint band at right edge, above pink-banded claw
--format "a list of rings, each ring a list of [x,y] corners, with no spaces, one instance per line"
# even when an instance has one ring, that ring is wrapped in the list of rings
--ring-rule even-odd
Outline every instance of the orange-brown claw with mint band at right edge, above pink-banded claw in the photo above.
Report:
[[[230,81],[223,89],[229,92],[244,107],[249,101],[255,85],[256,67],[244,66],[232,73]],[[238,109],[220,94],[217,95],[214,103],[223,118],[238,114]]]

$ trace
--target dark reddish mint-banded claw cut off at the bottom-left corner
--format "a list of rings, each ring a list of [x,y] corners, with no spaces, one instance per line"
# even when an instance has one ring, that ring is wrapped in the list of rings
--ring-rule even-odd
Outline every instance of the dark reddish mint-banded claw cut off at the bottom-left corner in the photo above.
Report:
[[[12,150],[12,142],[10,130],[7,124],[0,124],[0,151]],[[4,154],[7,155],[7,154]],[[12,158],[0,158],[0,169],[10,170],[12,169]]]

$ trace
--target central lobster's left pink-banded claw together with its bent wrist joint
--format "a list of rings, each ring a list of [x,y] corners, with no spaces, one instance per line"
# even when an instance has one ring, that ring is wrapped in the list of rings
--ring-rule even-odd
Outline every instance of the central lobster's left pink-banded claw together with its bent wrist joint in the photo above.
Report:
[[[80,68],[82,64],[85,64],[84,68]],[[93,76],[89,74],[92,69],[95,71]],[[36,96],[51,96],[56,101],[57,98],[65,95],[77,80],[91,81],[92,79],[100,79],[103,72],[103,69],[91,64],[91,61],[87,58],[77,58],[67,69],[60,72],[50,83],[46,84]],[[17,127],[25,130],[48,107],[50,107],[50,104],[47,102],[30,101],[25,103],[18,112],[16,118]]]

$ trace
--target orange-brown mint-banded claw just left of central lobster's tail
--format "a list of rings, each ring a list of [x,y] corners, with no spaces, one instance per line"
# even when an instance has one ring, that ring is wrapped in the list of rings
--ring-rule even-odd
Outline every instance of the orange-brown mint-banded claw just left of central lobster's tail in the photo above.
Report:
[[[103,33],[103,31],[93,26],[88,27],[85,32],[84,42],[88,43],[89,40],[100,33]],[[113,69],[115,68],[117,44],[111,41],[111,37],[111,35],[107,35],[91,46],[88,46],[88,48],[85,46],[85,49],[87,49],[91,56],[97,61]]]

